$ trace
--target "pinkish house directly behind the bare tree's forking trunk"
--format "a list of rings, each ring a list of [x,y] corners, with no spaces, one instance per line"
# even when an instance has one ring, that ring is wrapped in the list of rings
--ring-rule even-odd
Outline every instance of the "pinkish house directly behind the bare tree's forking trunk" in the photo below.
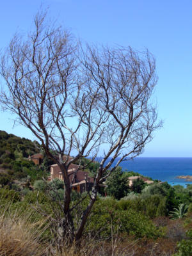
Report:
[[[78,168],[79,165],[70,164],[70,167],[68,169],[68,175],[70,183],[72,183],[72,189],[82,193],[92,188],[94,179],[93,177],[90,177],[88,175],[88,172],[84,172],[83,170],[77,170]],[[58,164],[51,165],[51,176],[48,177],[48,180],[51,181],[53,179],[63,180],[63,175]]]

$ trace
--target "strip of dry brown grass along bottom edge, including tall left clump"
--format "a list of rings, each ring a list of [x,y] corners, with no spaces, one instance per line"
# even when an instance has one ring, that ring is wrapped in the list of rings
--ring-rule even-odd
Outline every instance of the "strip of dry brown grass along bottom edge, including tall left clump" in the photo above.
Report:
[[[11,206],[2,207],[0,200],[0,256],[171,256],[175,252],[175,242],[166,238],[135,241],[119,236],[113,237],[113,243],[84,237],[80,248],[58,252],[52,244],[42,244],[46,220],[35,221],[30,211],[11,211]]]

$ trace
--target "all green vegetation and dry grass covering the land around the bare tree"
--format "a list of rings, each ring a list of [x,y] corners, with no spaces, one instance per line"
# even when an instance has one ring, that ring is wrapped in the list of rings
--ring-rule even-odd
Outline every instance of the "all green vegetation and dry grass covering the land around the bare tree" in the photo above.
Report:
[[[58,223],[53,220],[56,220],[56,214],[57,218],[63,218],[60,202],[63,200],[64,183],[58,179],[52,182],[42,180],[40,175],[48,174],[47,167],[35,166],[24,157],[29,147],[33,153],[40,152],[37,143],[3,131],[0,134],[4,148],[4,151],[1,148],[1,163],[10,164],[9,169],[1,167],[1,177],[7,181],[0,188],[0,254],[77,256],[75,244],[65,249],[63,254],[56,247]],[[9,154],[11,160],[8,161],[4,156],[8,154],[7,145],[12,147],[10,138],[20,145],[23,141],[23,147],[20,154],[18,151],[15,154],[17,144],[13,143],[13,154]],[[94,173],[99,163],[82,158],[81,164],[86,171]],[[27,176],[19,173],[27,173]],[[104,182],[106,188],[102,188],[101,195],[97,196],[84,228],[81,256],[129,256],[132,252],[134,256],[191,256],[191,186],[172,187],[166,182],[146,185],[139,179],[129,187],[130,176],[141,175],[123,172],[118,167]],[[85,200],[81,201],[84,197]],[[72,191],[70,207],[77,204],[73,212],[75,225],[88,201],[86,194]],[[136,242],[138,239],[139,243]],[[158,245],[161,243],[163,247]],[[132,251],[128,250],[130,246]]]

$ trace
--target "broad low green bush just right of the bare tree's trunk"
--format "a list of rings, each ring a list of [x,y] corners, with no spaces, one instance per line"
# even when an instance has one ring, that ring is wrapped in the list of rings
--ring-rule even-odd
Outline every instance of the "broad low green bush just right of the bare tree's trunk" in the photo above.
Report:
[[[122,210],[122,208],[122,203],[111,198],[97,200],[86,231],[91,232],[92,236],[105,239],[111,237],[111,228],[113,228],[113,234],[118,232],[126,236],[130,234],[135,237],[155,239],[163,234],[140,212],[133,209]]]

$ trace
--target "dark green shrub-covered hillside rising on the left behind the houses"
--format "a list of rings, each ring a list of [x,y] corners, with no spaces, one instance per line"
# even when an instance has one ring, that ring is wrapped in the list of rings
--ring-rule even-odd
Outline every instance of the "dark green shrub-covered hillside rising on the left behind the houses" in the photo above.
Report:
[[[44,166],[35,166],[28,156],[40,152],[37,141],[0,131],[0,185],[8,189],[30,188],[47,176]]]

